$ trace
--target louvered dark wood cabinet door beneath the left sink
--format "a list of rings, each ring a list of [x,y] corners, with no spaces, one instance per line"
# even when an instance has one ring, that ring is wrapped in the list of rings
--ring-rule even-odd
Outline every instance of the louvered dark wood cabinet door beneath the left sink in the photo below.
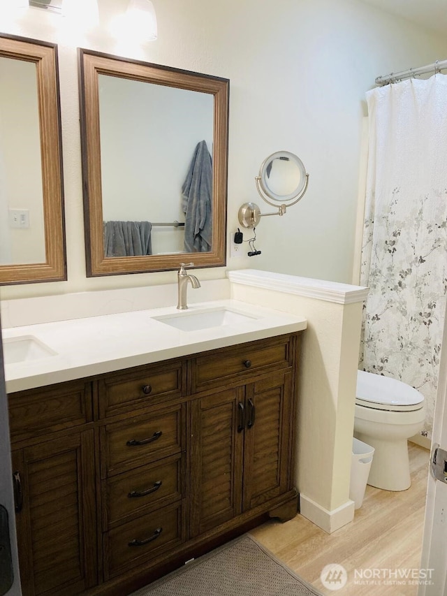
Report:
[[[70,596],[94,586],[93,430],[13,452],[24,596]]]

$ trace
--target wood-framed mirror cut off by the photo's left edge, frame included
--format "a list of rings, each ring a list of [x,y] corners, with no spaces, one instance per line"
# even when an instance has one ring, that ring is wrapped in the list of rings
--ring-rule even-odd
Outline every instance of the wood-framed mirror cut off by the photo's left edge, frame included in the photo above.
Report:
[[[0,284],[66,279],[57,45],[0,34]]]

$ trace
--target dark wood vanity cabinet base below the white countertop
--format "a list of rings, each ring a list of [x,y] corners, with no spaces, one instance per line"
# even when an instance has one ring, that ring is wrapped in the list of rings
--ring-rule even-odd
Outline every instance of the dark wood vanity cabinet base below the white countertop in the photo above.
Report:
[[[262,516],[293,517],[299,344],[11,394],[24,596],[123,596]]]

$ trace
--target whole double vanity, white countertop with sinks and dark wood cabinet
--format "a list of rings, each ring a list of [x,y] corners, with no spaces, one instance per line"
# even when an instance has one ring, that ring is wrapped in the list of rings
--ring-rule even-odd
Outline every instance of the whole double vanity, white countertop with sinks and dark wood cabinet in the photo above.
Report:
[[[24,595],[124,595],[295,516],[305,328],[218,300],[4,330]]]

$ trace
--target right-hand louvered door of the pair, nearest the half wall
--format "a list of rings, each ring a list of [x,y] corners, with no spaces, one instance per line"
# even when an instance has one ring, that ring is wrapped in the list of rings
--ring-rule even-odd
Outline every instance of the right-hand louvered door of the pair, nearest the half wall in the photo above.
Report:
[[[293,433],[292,373],[246,386],[244,511],[285,493]]]

